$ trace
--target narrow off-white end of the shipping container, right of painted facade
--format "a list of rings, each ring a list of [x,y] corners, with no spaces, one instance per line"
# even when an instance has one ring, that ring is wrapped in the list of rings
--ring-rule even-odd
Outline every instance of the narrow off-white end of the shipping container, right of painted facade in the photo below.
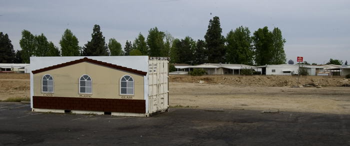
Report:
[[[148,60],[148,113],[168,109],[168,58],[149,57]]]

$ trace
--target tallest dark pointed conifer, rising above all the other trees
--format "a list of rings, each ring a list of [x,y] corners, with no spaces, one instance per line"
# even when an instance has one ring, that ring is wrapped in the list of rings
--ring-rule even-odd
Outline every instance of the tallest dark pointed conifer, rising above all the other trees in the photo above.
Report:
[[[208,29],[204,36],[208,49],[208,62],[210,63],[224,62],[225,40],[221,32],[219,17],[214,16],[213,19],[209,20]]]

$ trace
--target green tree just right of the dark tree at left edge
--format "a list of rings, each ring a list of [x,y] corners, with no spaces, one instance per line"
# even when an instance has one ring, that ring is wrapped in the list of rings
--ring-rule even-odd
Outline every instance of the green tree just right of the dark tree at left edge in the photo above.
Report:
[[[29,63],[29,57],[35,53],[35,36],[28,30],[22,31],[22,38],[19,40],[21,51],[21,58],[23,63]]]

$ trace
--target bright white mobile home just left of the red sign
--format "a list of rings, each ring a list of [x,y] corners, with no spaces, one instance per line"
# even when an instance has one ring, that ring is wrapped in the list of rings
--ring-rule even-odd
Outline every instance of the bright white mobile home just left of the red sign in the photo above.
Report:
[[[262,65],[253,67],[262,75],[293,75],[298,74],[299,67],[292,64]]]

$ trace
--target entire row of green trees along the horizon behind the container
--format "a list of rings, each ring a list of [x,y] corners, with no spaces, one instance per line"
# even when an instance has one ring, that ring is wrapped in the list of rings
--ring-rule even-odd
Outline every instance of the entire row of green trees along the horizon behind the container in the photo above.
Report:
[[[170,57],[170,63],[232,63],[248,65],[284,64],[285,39],[281,30],[274,27],[259,28],[251,35],[248,27],[240,26],[222,35],[219,17],[209,20],[204,40],[194,40],[186,36],[174,38],[170,33],[160,31],[157,27],[150,28],[148,35],[141,33],[133,40],[127,40],[123,49],[114,38],[107,43],[95,24],[91,40],[83,47],[78,45],[77,37],[66,29],[59,41],[60,49],[41,33],[31,34],[28,30],[21,32],[19,41],[21,50],[13,51],[13,46],[7,34],[1,32],[0,62],[29,63],[30,56],[119,56],[148,55]],[[4,57],[7,56],[7,57]]]

